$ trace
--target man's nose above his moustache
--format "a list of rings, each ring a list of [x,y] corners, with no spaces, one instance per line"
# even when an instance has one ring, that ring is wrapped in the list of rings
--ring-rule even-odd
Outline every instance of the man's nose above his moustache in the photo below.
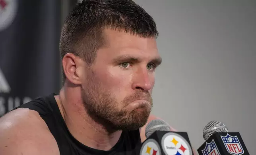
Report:
[[[147,70],[138,71],[133,77],[132,89],[149,91],[153,87],[154,77]]]

